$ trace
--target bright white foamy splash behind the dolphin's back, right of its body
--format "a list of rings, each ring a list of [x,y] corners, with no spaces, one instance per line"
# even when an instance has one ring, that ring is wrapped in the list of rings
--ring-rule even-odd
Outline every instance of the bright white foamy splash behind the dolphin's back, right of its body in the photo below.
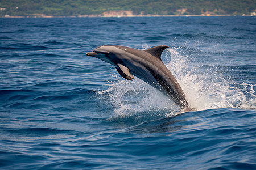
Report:
[[[234,82],[230,76],[224,76],[225,70],[220,70],[220,67],[205,69],[200,66],[188,66],[188,57],[182,56],[178,49],[168,49],[167,56],[172,58],[166,65],[183,88],[191,107],[197,110],[256,109],[256,84]]]

